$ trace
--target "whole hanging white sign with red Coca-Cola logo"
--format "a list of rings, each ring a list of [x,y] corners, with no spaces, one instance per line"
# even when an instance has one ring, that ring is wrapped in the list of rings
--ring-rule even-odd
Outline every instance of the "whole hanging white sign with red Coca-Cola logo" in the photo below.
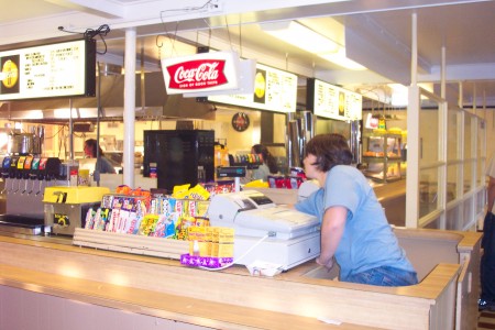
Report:
[[[194,94],[238,88],[240,58],[235,53],[200,53],[163,58],[167,94]]]

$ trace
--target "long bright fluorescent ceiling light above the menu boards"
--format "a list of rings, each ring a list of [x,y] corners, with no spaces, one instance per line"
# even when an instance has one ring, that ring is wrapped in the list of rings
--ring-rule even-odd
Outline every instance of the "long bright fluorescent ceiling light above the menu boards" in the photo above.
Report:
[[[262,24],[270,35],[304,51],[314,53],[333,64],[352,70],[364,70],[364,66],[345,56],[345,47],[320,33],[296,22],[285,21]]]

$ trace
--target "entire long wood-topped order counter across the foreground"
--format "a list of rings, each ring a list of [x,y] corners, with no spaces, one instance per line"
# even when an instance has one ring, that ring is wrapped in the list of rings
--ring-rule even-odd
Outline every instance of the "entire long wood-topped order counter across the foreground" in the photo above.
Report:
[[[481,234],[395,230],[418,285],[342,283],[314,261],[260,277],[0,237],[0,329],[475,328]]]

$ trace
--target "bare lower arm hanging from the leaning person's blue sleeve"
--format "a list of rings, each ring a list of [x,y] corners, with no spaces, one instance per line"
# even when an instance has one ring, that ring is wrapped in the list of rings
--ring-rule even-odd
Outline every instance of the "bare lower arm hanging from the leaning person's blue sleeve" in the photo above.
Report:
[[[339,248],[345,229],[348,209],[344,207],[331,207],[323,215],[321,224],[321,252],[317,263],[329,271],[333,266],[333,255]]]

